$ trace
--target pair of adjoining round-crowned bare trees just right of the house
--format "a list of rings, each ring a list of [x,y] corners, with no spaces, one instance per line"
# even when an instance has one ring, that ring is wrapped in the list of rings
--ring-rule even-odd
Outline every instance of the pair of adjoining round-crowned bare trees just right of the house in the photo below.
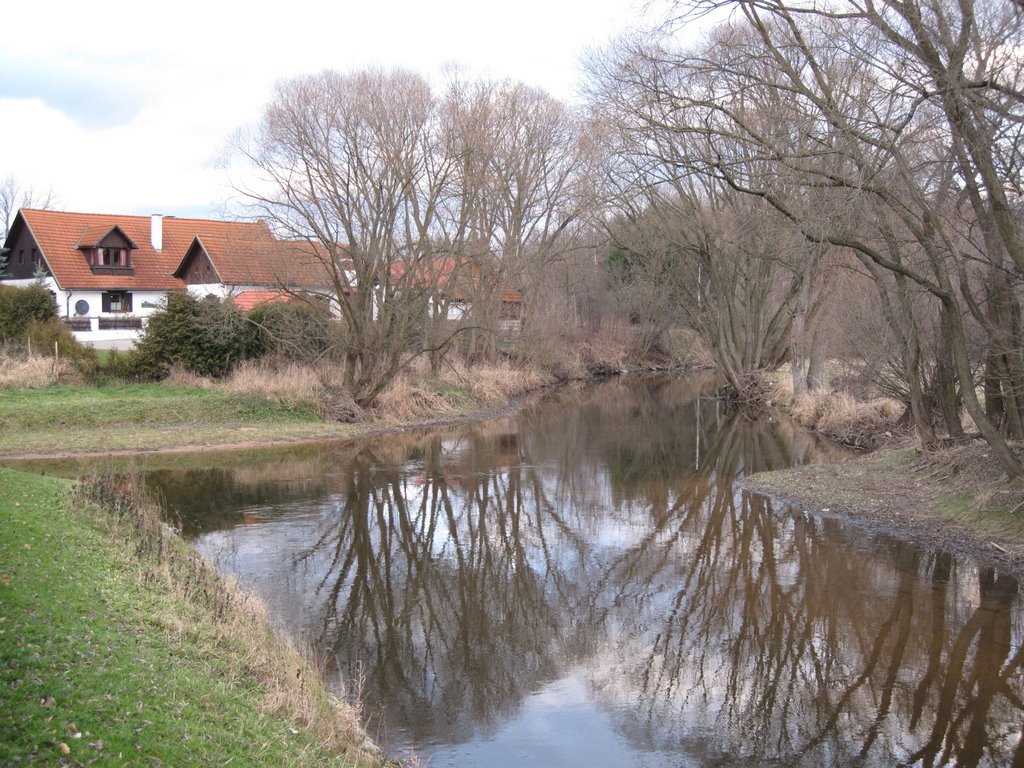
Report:
[[[558,257],[581,212],[578,123],[521,84],[437,97],[410,73],[327,72],[279,85],[238,144],[253,213],[327,276],[361,404],[459,334],[470,359],[493,356],[503,292]]]

